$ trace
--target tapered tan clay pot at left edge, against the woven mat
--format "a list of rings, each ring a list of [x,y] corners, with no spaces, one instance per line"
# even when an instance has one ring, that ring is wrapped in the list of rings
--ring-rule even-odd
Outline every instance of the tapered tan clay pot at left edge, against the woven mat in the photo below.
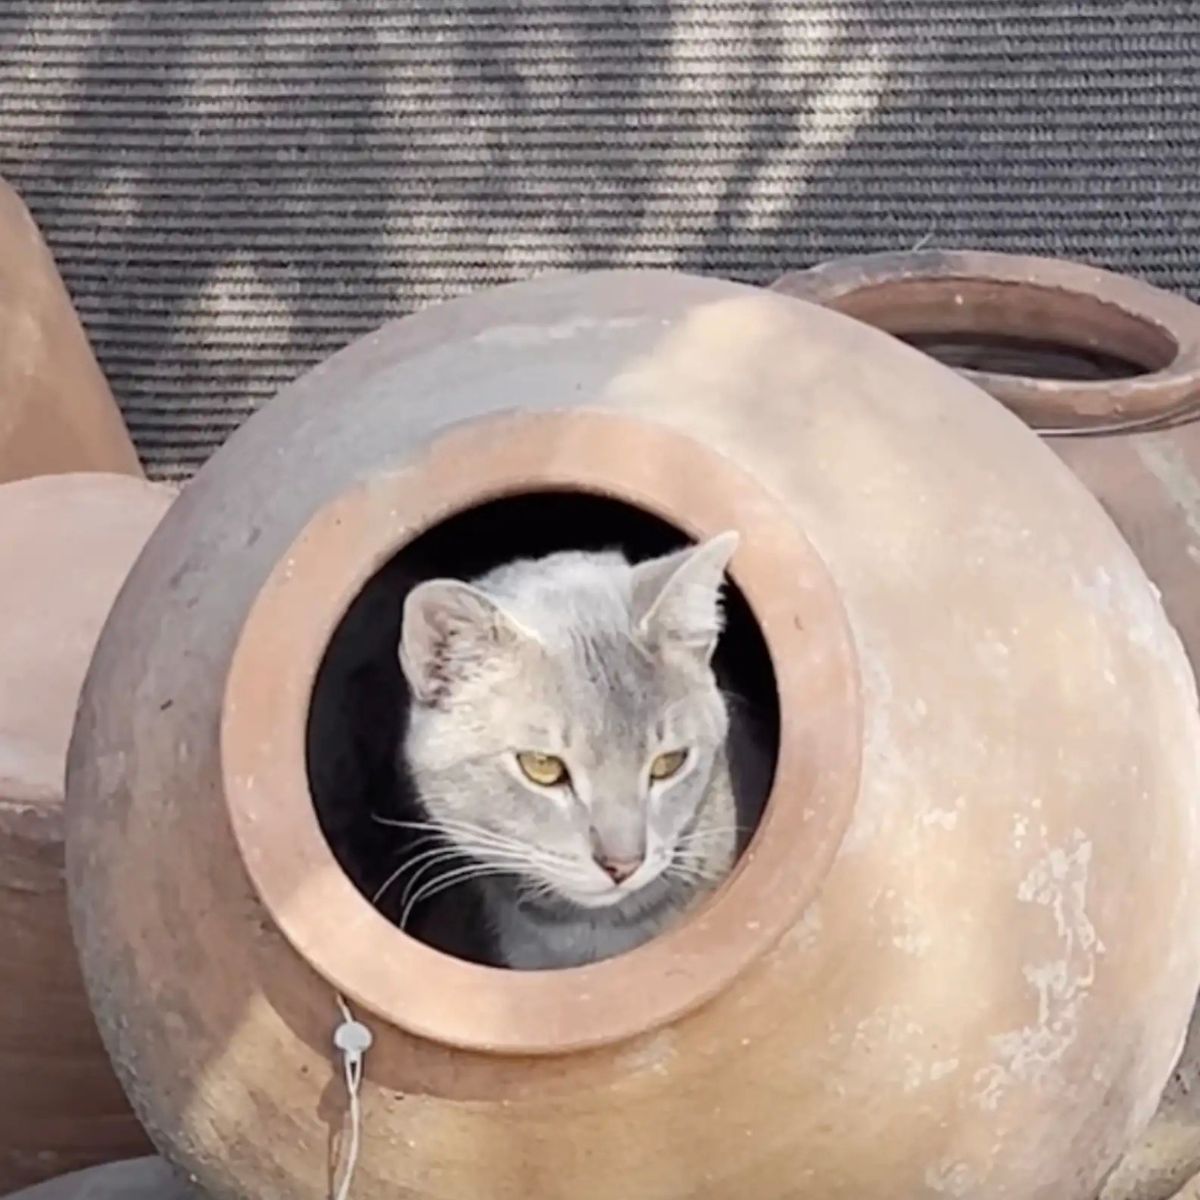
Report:
[[[54,259],[0,179],[0,484],[73,470],[142,475]]]

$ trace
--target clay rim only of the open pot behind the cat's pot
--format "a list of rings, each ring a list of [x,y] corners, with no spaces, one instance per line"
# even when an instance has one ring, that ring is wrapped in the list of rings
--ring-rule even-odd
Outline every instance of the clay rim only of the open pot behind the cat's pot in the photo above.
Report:
[[[1100,302],[1175,346],[1172,360],[1123,379],[1066,380],[960,370],[1038,432],[1103,433],[1174,424],[1200,400],[1200,307],[1144,280],[1069,259],[983,250],[858,254],[781,275],[770,290],[826,307],[889,283],[997,283]],[[985,331],[985,330],[980,330]]]

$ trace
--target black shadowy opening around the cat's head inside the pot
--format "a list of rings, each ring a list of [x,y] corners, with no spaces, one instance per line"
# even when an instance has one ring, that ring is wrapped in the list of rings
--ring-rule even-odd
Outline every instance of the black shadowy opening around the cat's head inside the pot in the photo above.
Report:
[[[313,686],[307,772],[322,832],[337,862],[391,922],[402,923],[413,895],[432,886],[439,872],[464,864],[461,858],[419,860],[418,856],[436,850],[440,840],[425,838],[424,830],[385,823],[425,818],[397,755],[410,704],[397,659],[406,594],[422,580],[478,578],[503,563],[560,550],[617,548],[638,562],[688,542],[671,524],[606,497],[574,492],[514,496],[433,526],[398,551],[361,589],[334,632]],[[736,697],[728,746],[740,852],[770,791],[780,714],[766,642],[749,604],[733,584],[726,587],[725,614],[714,671],[722,690]],[[430,898],[436,904],[413,904],[403,928],[445,953],[497,965],[474,895],[469,886],[450,886]]]

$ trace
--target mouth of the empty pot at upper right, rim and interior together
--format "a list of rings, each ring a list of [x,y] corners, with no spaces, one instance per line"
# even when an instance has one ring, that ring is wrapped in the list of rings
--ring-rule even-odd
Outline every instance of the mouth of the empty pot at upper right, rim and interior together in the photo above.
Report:
[[[1048,434],[1177,424],[1200,398],[1200,308],[1080,263],[868,254],[791,272],[773,290],[892,334]]]

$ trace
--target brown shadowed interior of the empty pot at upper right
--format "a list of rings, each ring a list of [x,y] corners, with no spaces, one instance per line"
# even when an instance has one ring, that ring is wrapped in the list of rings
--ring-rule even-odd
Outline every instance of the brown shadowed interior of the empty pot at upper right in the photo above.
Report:
[[[1145,317],[1032,283],[886,280],[832,304],[958,371],[1103,382],[1162,371],[1178,353]]]

